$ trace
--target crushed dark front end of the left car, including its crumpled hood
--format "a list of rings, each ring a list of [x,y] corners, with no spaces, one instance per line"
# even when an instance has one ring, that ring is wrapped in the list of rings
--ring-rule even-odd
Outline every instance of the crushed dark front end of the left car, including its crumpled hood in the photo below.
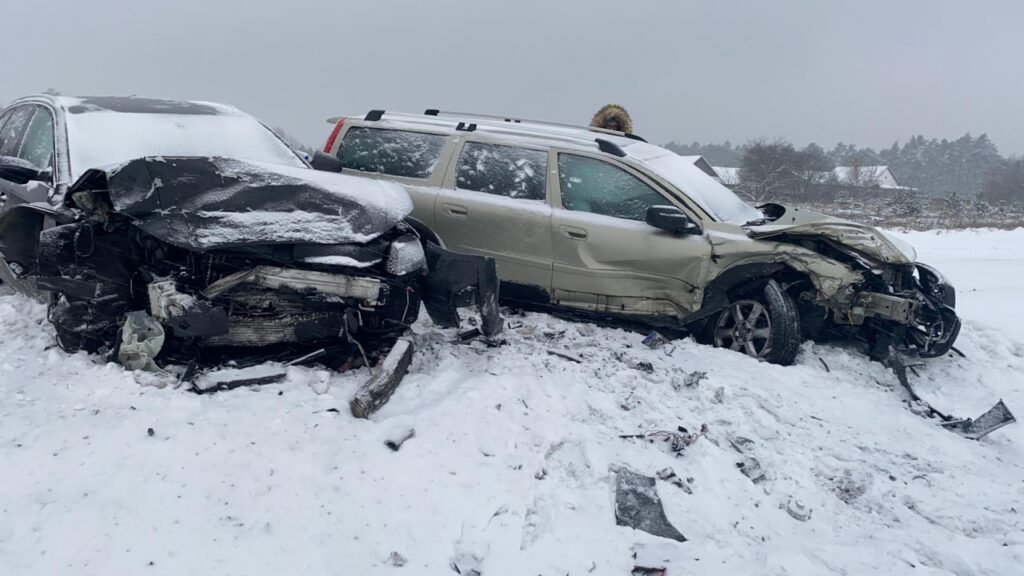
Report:
[[[369,362],[424,300],[439,324],[477,304],[484,328],[500,330],[494,261],[425,247],[401,210],[385,208],[265,166],[140,159],[73,187],[69,216],[39,235],[26,275],[50,294],[62,347],[130,348],[138,366],[154,347],[143,340],[158,337],[170,360],[324,347],[338,366]]]

